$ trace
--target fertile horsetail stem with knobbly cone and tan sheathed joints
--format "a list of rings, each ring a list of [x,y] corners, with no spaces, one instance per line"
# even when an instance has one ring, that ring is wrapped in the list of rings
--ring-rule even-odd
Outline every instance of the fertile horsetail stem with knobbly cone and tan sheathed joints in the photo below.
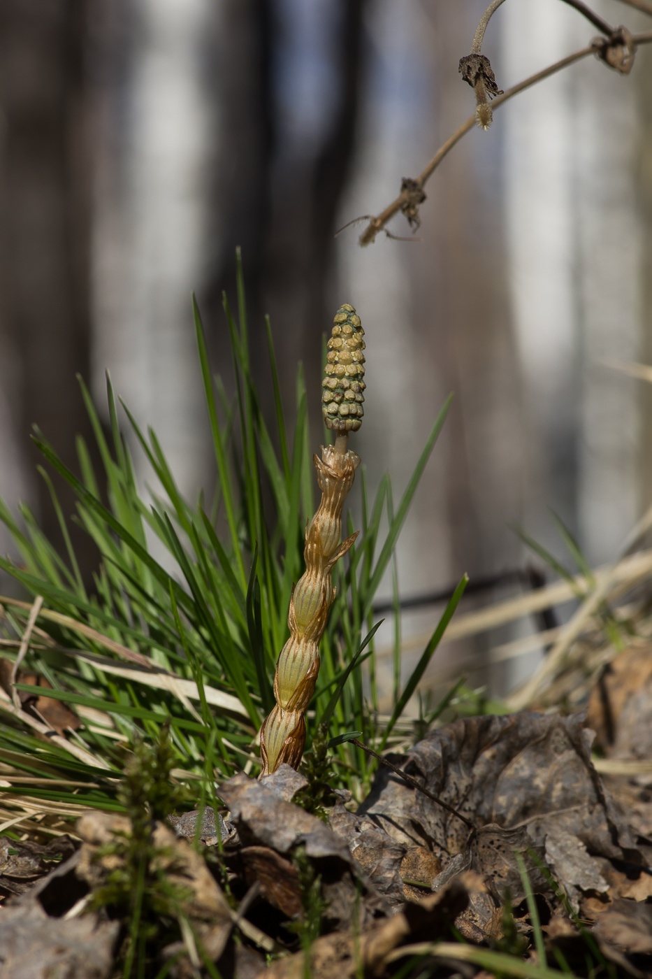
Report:
[[[364,413],[364,330],[349,303],[340,306],[334,323],[322,381],[322,411],[327,428],[335,432],[335,444],[321,446],[321,459],[312,456],[321,502],[305,532],[305,573],[290,599],[290,638],[274,676],[276,706],[260,729],[261,775],[275,771],[281,762],[299,768],[305,711],[319,673],[319,642],[335,600],[331,572],[357,536],[355,532],[339,542],[342,509],[360,461],[348,442],[349,432],[359,429]]]

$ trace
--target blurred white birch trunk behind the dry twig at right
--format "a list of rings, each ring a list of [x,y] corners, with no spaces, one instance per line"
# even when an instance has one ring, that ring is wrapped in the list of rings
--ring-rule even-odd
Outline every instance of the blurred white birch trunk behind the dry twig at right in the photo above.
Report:
[[[595,33],[561,3],[505,4],[500,15],[505,87]],[[635,15],[627,20],[635,26]],[[550,506],[579,534],[587,559],[604,562],[639,506],[636,393],[601,363],[635,359],[640,333],[635,88],[589,59],[504,113],[510,280],[530,436],[526,523],[563,554]]]

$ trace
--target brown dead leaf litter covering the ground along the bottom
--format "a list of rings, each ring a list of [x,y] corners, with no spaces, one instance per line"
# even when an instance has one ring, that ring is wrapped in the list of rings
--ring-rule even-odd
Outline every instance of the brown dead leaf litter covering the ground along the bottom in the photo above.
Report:
[[[205,807],[151,827],[152,879],[176,889],[184,922],[176,932],[168,922],[152,974],[382,977],[413,955],[429,975],[471,979],[499,972],[491,956],[504,952],[542,968],[537,948],[548,967],[580,975],[587,962],[595,974],[652,974],[652,840],[629,819],[623,776],[591,761],[596,747],[644,757],[652,728],[632,720],[641,690],[652,703],[652,670],[634,648],[595,687],[595,733],[583,714],[464,718],[387,756],[471,831],[383,767],[356,810],[334,793],[328,822],[296,804],[308,782],[289,766],[228,779],[218,787],[226,818]],[[635,794],[650,778],[625,781]],[[47,845],[0,838],[2,979],[118,974],[123,928],[93,895],[119,869],[113,844],[129,832],[127,816],[89,812],[74,836]],[[319,912],[307,945],[306,895]],[[467,944],[451,946],[455,935]],[[455,959],[455,948],[466,951]]]

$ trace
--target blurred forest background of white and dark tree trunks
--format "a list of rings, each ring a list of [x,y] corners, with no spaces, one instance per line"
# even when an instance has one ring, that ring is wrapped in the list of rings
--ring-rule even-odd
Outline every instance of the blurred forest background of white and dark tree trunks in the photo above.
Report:
[[[548,507],[591,563],[616,557],[652,497],[652,393],[604,365],[652,363],[649,52],[626,78],[587,59],[469,134],[428,185],[419,241],[381,235],[362,250],[364,225],[334,237],[389,204],[473,112],[457,64],[484,6],[3,0],[0,494],[12,506],[26,499],[56,538],[29,431],[38,423],[74,465],[75,436],[89,435],[75,372],[104,404],[109,369],[181,489],[210,486],[189,297],[228,375],[221,293],[234,300],[240,245],[263,397],[268,312],[290,413],[303,361],[315,447],[322,336],[341,303],[360,313],[368,396],[353,447],[372,487],[390,470],[402,489],[455,393],[401,538],[402,596],[526,567],[514,524],[568,564]],[[646,29],[615,0],[595,7]],[[507,88],[593,33],[558,0],[509,0],[484,50]],[[392,229],[409,234],[401,216]],[[404,634],[437,612],[409,613]]]

